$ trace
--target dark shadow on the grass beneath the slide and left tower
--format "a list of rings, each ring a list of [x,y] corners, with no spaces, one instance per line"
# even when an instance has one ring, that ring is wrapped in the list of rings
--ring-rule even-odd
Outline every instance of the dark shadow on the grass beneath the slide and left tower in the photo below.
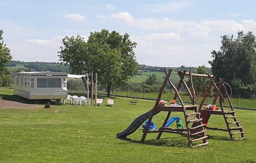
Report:
[[[187,139],[181,140],[181,137],[176,138],[164,138],[159,140],[147,140],[147,141],[136,141],[128,138],[121,139],[131,143],[137,144],[145,144],[145,145],[153,145],[153,146],[161,146],[161,147],[187,147]]]

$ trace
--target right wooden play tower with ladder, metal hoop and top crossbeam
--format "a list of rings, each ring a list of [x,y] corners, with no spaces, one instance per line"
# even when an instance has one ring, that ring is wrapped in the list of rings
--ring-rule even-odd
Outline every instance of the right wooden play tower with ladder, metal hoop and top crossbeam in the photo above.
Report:
[[[182,77],[183,75],[184,76],[185,75],[190,76],[191,88],[194,89],[192,76],[197,76],[199,74],[193,74],[193,73],[191,73],[191,71],[189,73],[188,72],[183,72],[183,73],[179,72],[179,76]],[[207,77],[207,78],[210,79],[210,85],[206,89],[206,91],[204,93],[204,96],[203,96],[203,99],[202,99],[202,101],[200,103],[200,106],[199,106],[199,109],[198,109],[198,112],[201,113],[201,116],[203,118],[203,123],[208,123],[208,120],[209,120],[211,115],[221,115],[223,117],[225,123],[226,123],[226,126],[227,126],[227,128],[217,128],[217,127],[208,127],[208,126],[206,126],[205,128],[210,129],[210,130],[226,131],[226,132],[229,133],[229,136],[230,136],[232,141],[245,139],[243,127],[240,125],[240,121],[237,120],[237,116],[234,115],[236,112],[234,112],[233,105],[232,105],[231,100],[230,100],[231,95],[228,95],[228,92],[227,92],[227,89],[226,89],[225,85],[227,85],[229,87],[230,92],[232,91],[231,87],[224,82],[223,78],[220,79],[220,82],[215,83],[214,82],[214,76],[212,76],[212,75],[209,75],[209,74],[202,75],[201,74],[200,77]],[[217,87],[217,84],[219,84],[218,87]],[[207,97],[211,87],[214,87],[214,89],[216,91],[216,95],[214,96],[214,101],[210,105],[210,109],[209,109],[208,106],[205,106],[205,108],[202,108],[203,105],[204,105],[205,98]],[[229,111],[224,110],[224,107],[223,107],[224,97],[223,97],[221,91],[224,92],[224,94],[227,98],[227,101],[229,103],[228,108],[230,109]],[[219,97],[220,110],[219,110],[219,107],[216,107],[218,97]],[[195,96],[192,96],[192,99],[195,99]],[[193,102],[195,103],[195,101],[193,101]],[[233,122],[229,122],[228,119],[231,119],[231,120],[233,119]],[[235,125],[235,126],[232,126],[232,125]],[[199,124],[197,122],[194,122],[193,127],[196,127],[196,126],[199,126]],[[236,131],[236,130],[239,130],[239,131],[238,132],[233,132],[233,131]],[[241,134],[241,138],[234,138],[234,135],[238,135],[238,134]]]

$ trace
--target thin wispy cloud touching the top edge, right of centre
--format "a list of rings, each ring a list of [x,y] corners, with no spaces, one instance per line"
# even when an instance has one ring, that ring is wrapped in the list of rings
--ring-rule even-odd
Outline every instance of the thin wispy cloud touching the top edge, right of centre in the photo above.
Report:
[[[195,4],[194,1],[176,1],[176,2],[166,2],[164,4],[148,5],[147,10],[149,12],[165,13],[174,12],[182,9],[189,8]]]

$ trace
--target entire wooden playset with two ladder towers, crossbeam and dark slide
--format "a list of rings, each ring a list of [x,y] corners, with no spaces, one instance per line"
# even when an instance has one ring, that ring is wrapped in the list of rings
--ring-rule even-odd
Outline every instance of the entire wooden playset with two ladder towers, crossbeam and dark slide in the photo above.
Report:
[[[133,132],[135,132],[139,126],[148,119],[148,122],[146,124],[146,127],[144,130],[142,130],[143,135],[141,138],[141,141],[144,141],[146,138],[147,133],[158,133],[157,139],[160,139],[161,135],[163,132],[168,132],[168,133],[177,133],[180,135],[186,135],[187,137],[187,141],[188,141],[188,146],[189,147],[198,147],[198,146],[205,146],[207,145],[209,142],[207,142],[207,136],[205,135],[205,126],[206,124],[202,123],[203,121],[208,121],[210,118],[210,115],[214,114],[214,115],[222,115],[227,129],[223,129],[223,128],[212,128],[212,127],[206,127],[207,129],[212,129],[212,130],[220,130],[220,131],[227,131],[230,135],[231,140],[238,140],[238,139],[234,139],[233,135],[234,134],[239,134],[241,133],[241,137],[240,139],[244,139],[244,132],[243,132],[243,127],[240,126],[240,122],[237,121],[237,117],[234,116],[234,111],[233,111],[233,106],[232,103],[230,101],[230,98],[227,94],[227,90],[225,88],[225,85],[223,84],[224,80],[221,79],[221,82],[219,83],[219,87],[217,87],[216,83],[214,82],[214,76],[213,75],[209,75],[209,74],[194,74],[191,73],[191,71],[188,73],[186,71],[179,71],[178,75],[180,77],[180,82],[177,86],[177,88],[173,85],[173,83],[171,82],[171,80],[169,79],[170,74],[172,73],[172,69],[168,69],[165,70],[165,74],[166,77],[164,79],[163,85],[159,91],[155,106],[152,108],[152,110],[148,111],[147,113],[139,116],[138,118],[136,118],[129,127],[127,127],[124,131],[117,133],[117,138],[122,139],[122,138],[126,138],[127,135],[132,134]],[[184,77],[185,76],[189,76],[190,77],[190,83],[191,83],[191,89],[193,91],[193,94],[191,93],[191,91],[189,90],[187,84],[185,83]],[[196,102],[195,102],[195,89],[193,87],[193,79],[192,77],[207,77],[210,79],[210,85],[209,87],[206,89],[204,97],[200,103],[199,108],[197,108]],[[166,105],[166,106],[159,106],[159,101],[161,99],[161,95],[164,91],[164,88],[167,84],[167,82],[172,86],[172,88],[175,90],[175,96],[174,96],[174,100],[176,100],[178,98],[179,102],[181,105]],[[184,85],[184,88],[186,89],[186,91],[188,92],[189,98],[191,100],[192,105],[184,105],[184,102],[182,101],[178,90],[180,89],[181,85]],[[220,103],[220,108],[221,110],[204,110],[202,109],[202,106],[204,105],[204,101],[205,98],[210,90],[211,87],[214,87],[214,89],[216,90],[216,95],[214,98],[214,101],[212,102],[212,105],[216,105],[216,101],[218,99],[218,97],[220,98],[219,103]],[[223,89],[224,93],[227,96],[228,102],[230,104],[230,109],[231,111],[224,111],[223,105],[222,103],[224,102],[224,98],[223,95],[221,94],[221,89]],[[188,111],[192,111],[192,113],[187,113]],[[149,130],[150,128],[150,124],[152,122],[152,119],[155,115],[157,115],[160,112],[168,112],[167,116],[162,124],[162,127],[160,127],[158,130]],[[170,114],[172,112],[182,112],[184,115],[184,119],[185,119],[185,128],[170,128],[170,127],[166,127],[166,124],[168,122],[168,119],[170,117]],[[203,118],[201,118],[201,113],[203,114]],[[231,115],[231,116],[227,116],[227,115]],[[233,119],[234,122],[228,122],[227,119]],[[236,127],[230,127],[230,125],[237,125]],[[240,130],[240,132],[232,132],[233,130]],[[196,137],[196,138],[195,138]],[[240,140],[239,139],[239,140]],[[194,145],[194,142],[197,141],[203,141],[201,144],[197,144]]]

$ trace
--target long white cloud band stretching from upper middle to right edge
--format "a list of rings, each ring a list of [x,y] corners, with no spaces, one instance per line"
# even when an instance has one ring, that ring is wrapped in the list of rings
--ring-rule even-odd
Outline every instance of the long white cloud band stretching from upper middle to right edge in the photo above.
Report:
[[[191,35],[201,35],[206,37],[209,32],[237,32],[243,31],[255,31],[256,21],[254,20],[242,20],[240,23],[235,20],[202,20],[202,21],[181,21],[169,18],[153,19],[142,18],[135,19],[127,12],[121,12],[118,14],[112,14],[112,18],[122,20],[126,24],[136,26],[141,29],[147,30],[178,30],[186,31]]]

